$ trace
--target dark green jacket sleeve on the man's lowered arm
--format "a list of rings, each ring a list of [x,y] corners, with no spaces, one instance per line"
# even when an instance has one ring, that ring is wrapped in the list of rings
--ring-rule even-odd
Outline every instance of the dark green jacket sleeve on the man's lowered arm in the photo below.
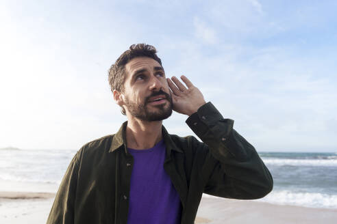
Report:
[[[80,151],[79,151],[80,152]],[[77,186],[77,173],[79,169],[79,152],[68,165],[62,179],[58,193],[56,193],[47,224],[74,223],[74,204]]]

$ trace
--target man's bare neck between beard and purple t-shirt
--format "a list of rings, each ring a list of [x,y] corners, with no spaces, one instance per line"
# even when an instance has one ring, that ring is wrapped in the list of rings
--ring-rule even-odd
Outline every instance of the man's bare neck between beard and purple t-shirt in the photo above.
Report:
[[[162,121],[144,122],[131,119],[125,130],[127,148],[145,150],[162,140]]]

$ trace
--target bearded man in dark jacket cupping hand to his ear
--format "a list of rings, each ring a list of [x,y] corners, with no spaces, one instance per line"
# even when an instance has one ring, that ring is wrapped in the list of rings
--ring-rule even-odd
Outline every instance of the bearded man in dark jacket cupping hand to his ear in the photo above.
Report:
[[[77,152],[47,223],[194,223],[203,193],[257,199],[273,188],[257,152],[186,76],[166,79],[153,46],[136,44],[109,71],[127,116],[115,135]],[[162,120],[188,115],[195,137],[169,135]]]

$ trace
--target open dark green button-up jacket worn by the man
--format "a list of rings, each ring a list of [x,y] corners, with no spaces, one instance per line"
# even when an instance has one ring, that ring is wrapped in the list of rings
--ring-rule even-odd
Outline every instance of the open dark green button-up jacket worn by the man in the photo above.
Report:
[[[169,135],[164,170],[182,202],[181,223],[194,223],[203,193],[234,199],[258,199],[273,188],[273,178],[258,153],[223,119],[211,102],[186,123],[195,137]],[[125,145],[125,127],[86,143],[68,166],[47,223],[127,223],[133,157]]]

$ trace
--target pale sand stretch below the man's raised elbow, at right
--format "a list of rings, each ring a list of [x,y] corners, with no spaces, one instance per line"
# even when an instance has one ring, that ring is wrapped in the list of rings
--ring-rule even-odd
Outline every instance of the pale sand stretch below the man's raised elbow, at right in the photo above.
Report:
[[[203,197],[196,223],[336,223],[337,210]]]

